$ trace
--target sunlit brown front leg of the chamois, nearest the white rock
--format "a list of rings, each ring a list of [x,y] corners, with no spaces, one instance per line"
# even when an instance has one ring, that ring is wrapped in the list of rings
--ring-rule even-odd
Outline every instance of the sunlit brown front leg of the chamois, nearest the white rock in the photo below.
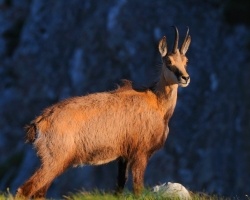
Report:
[[[145,155],[136,156],[131,162],[133,190],[136,195],[141,194],[144,187],[144,173],[148,158]]]

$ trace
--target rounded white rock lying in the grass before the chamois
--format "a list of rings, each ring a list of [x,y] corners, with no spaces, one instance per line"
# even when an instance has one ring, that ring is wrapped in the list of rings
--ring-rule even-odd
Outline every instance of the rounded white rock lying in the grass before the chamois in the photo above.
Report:
[[[178,199],[191,199],[188,190],[179,183],[168,182],[162,185],[156,185],[153,187],[153,191],[158,193],[162,197],[178,198]]]

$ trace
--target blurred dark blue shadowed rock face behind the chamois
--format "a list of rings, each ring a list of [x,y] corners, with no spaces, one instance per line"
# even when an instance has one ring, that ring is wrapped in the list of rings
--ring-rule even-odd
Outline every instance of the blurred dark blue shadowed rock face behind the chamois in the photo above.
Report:
[[[149,85],[158,41],[172,48],[190,27],[191,83],[179,89],[165,147],[145,185],[250,194],[249,0],[0,0],[0,190],[16,189],[39,166],[23,127],[62,99],[113,90],[121,79]],[[62,147],[63,148],[63,147]],[[116,162],[68,170],[47,197],[113,190]],[[131,189],[131,177],[127,185]]]

